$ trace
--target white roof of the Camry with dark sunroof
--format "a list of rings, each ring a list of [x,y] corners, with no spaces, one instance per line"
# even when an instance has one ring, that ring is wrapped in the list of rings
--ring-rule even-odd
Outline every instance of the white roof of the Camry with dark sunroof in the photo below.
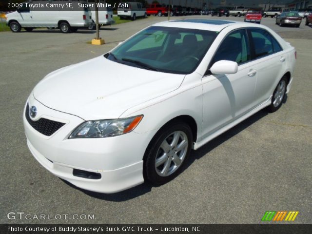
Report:
[[[163,21],[156,23],[153,26],[191,28],[191,29],[201,29],[220,32],[222,29],[237,23],[238,22],[230,20],[188,19],[188,20]]]

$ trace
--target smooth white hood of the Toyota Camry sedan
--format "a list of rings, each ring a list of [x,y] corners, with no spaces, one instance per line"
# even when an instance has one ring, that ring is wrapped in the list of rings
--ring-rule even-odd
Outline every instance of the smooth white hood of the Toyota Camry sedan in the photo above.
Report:
[[[174,91],[184,77],[100,56],[48,74],[33,95],[49,108],[85,120],[117,118],[133,106]]]

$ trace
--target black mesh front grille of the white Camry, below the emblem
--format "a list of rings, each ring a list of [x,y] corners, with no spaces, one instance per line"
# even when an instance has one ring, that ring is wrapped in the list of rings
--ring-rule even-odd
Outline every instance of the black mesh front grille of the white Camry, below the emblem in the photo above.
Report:
[[[45,135],[45,136],[51,136],[56,131],[58,131],[65,123],[53,121],[51,119],[47,118],[39,118],[37,121],[33,121],[29,117],[29,105],[27,104],[25,117],[28,121],[28,123],[36,129],[39,133]]]

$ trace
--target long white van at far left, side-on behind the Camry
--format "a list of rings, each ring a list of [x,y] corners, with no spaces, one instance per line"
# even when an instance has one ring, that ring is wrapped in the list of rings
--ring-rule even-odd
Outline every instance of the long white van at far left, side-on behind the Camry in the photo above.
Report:
[[[21,28],[30,32],[36,27],[59,28],[62,33],[70,33],[76,32],[79,28],[88,28],[92,24],[91,11],[88,8],[72,11],[45,9],[33,10],[30,9],[29,3],[23,2],[17,11],[6,15],[6,23],[15,33],[20,32]]]

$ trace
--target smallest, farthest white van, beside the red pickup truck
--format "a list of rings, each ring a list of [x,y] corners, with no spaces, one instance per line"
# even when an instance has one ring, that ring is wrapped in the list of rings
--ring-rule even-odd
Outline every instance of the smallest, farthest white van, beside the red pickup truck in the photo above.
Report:
[[[117,9],[117,15],[120,19],[131,18],[136,20],[137,17],[147,17],[146,9],[143,8],[140,2],[122,2],[120,4],[123,5],[123,7],[118,7]]]

